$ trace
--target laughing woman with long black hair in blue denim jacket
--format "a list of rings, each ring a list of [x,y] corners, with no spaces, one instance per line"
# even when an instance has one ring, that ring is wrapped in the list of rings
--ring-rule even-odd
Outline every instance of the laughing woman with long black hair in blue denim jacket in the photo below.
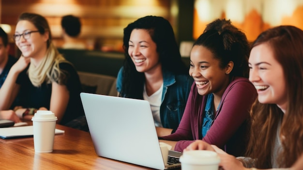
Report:
[[[193,79],[170,23],[160,16],[137,19],[124,29],[123,48],[118,95],[148,100],[158,136],[171,134],[181,121]]]

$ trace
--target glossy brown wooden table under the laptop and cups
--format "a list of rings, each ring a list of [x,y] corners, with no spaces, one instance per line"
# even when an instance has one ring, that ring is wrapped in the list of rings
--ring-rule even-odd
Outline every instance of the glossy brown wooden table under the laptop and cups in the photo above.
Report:
[[[0,139],[0,170],[152,170],[97,156],[90,133],[57,124],[52,153],[35,153],[33,138]]]

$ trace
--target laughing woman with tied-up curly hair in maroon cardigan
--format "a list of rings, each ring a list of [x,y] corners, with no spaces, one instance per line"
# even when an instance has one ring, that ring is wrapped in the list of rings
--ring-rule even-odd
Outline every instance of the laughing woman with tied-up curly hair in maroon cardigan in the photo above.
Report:
[[[163,142],[179,152],[197,139],[231,155],[245,152],[249,109],[257,97],[248,80],[249,49],[245,34],[229,20],[207,25],[191,50],[195,83],[181,123],[174,134],[160,138]]]

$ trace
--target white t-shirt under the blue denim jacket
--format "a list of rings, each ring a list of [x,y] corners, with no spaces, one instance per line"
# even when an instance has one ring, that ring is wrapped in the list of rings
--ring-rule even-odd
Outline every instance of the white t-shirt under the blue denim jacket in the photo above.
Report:
[[[157,90],[151,96],[148,96],[146,93],[145,85],[144,85],[143,99],[149,101],[151,104],[152,117],[153,117],[153,121],[154,121],[156,127],[163,127],[162,123],[161,123],[161,118],[160,118],[160,106],[161,106],[162,92],[163,92],[163,83],[159,90]]]

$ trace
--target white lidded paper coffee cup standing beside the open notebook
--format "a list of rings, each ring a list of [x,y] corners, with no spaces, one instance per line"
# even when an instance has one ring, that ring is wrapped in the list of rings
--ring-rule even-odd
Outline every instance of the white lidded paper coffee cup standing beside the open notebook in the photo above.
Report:
[[[56,121],[58,120],[55,114],[48,110],[38,110],[31,120],[35,152],[53,152]]]

